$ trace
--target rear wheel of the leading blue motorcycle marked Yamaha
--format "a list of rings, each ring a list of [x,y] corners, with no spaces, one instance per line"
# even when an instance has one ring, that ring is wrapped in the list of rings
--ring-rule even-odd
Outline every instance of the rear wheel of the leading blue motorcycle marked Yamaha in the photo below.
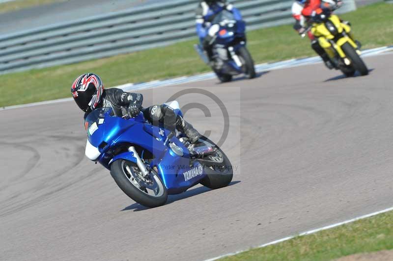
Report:
[[[213,141],[205,136],[202,136],[199,141],[215,145]],[[217,145],[215,146],[217,147]],[[227,186],[232,181],[233,166],[220,148],[218,148],[216,154],[209,155],[198,161],[203,165],[203,169],[206,172],[206,177],[200,181],[205,187],[217,189]]]

